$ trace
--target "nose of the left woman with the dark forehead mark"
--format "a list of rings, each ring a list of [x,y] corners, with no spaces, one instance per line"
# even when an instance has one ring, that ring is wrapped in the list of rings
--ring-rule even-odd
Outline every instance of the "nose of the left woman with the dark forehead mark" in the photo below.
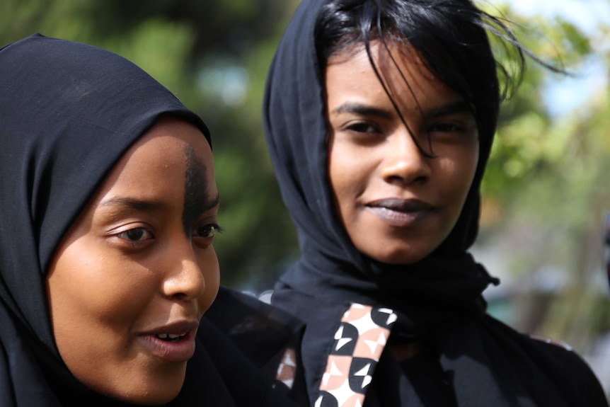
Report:
[[[185,301],[201,297],[205,292],[205,277],[191,245],[183,244],[179,249],[174,246],[173,253],[168,254],[167,260],[170,259],[170,272],[163,280],[163,294]]]

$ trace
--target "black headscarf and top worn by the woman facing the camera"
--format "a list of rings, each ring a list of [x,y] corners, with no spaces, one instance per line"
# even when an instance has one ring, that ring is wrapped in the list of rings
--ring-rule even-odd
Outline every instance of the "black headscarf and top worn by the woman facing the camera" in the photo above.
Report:
[[[267,77],[263,115],[302,255],[277,282],[272,304],[306,324],[300,351],[310,405],[607,406],[580,357],[485,312],[481,293],[498,282],[467,250],[478,230],[490,142],[480,144],[480,171],[459,221],[430,256],[389,265],[352,244],[328,182],[325,92],[314,41],[323,2],[302,1],[290,21]],[[380,350],[414,340],[430,347],[425,369],[432,376],[418,375],[412,362],[392,366]]]

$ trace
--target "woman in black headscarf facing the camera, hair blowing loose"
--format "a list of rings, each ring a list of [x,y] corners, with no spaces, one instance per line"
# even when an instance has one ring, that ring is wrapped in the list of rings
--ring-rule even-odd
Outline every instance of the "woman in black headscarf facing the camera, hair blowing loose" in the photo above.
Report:
[[[284,33],[264,124],[302,255],[271,302],[306,324],[311,406],[608,405],[575,352],[485,311],[468,248],[511,84],[488,34],[523,62],[469,0],[304,0]]]

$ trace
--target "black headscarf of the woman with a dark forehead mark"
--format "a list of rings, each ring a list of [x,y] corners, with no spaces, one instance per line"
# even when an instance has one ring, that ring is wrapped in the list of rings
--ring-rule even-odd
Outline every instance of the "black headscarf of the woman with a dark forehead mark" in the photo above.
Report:
[[[112,52],[38,34],[0,49],[1,406],[122,405],[62,362],[45,274],[105,175],[161,114],[190,122],[210,142],[200,117]],[[205,319],[199,331],[171,405],[265,405],[272,395],[251,365]]]

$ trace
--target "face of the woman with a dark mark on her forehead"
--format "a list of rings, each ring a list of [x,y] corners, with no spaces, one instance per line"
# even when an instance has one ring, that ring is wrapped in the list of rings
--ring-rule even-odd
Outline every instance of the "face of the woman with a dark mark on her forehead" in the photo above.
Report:
[[[178,394],[219,287],[218,203],[212,151],[187,122],[162,119],[117,162],[47,275],[55,342],[77,379],[131,403]]]

